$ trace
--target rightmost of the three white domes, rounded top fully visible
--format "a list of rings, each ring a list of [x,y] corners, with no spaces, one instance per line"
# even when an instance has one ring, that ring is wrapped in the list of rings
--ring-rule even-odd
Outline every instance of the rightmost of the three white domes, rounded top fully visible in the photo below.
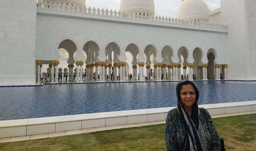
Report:
[[[203,0],[184,0],[178,7],[177,18],[209,20],[209,9]]]

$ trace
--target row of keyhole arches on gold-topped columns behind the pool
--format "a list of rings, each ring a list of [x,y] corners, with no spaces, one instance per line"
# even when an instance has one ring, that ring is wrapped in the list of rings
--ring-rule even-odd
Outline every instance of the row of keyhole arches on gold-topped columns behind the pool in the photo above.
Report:
[[[84,44],[83,60],[77,60],[75,58],[77,46],[72,40],[66,39],[61,41],[59,44],[59,50],[60,49],[67,51],[66,56],[68,57],[65,61],[67,62],[67,67],[64,69],[58,68],[59,60],[48,61],[50,62],[49,68],[45,76],[48,78],[49,82],[59,82],[60,76],[64,82],[128,80],[129,73],[132,73],[133,80],[150,79],[176,81],[181,80],[182,77],[183,79],[188,78],[189,80],[227,79],[228,66],[227,64],[217,63],[217,52],[214,48],[209,48],[207,53],[204,54],[200,47],[196,47],[192,54],[190,54],[187,47],[182,46],[175,54],[172,47],[166,45],[161,50],[162,62],[158,62],[155,59],[158,50],[153,44],[148,44],[146,48],[144,48],[144,62],[138,61],[138,56],[141,51],[134,43],[129,44],[125,48],[125,55],[130,55],[127,60],[120,60],[121,49],[115,42],[106,45],[106,60],[98,60],[100,51],[99,45],[95,41],[88,41]],[[203,60],[203,55],[206,55],[207,61]],[[190,58],[193,58],[193,61],[191,61]],[[189,59],[190,61],[188,61]],[[44,62],[44,60],[37,60],[37,81],[40,81],[39,78],[42,74],[41,67]]]

